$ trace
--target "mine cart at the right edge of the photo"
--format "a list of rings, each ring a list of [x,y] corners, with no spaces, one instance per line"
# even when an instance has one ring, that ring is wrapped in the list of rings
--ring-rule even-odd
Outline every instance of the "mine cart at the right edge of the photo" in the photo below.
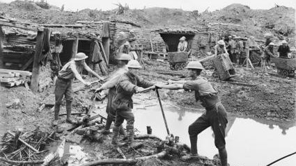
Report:
[[[295,76],[296,59],[270,58],[277,68],[277,73],[281,76]]]

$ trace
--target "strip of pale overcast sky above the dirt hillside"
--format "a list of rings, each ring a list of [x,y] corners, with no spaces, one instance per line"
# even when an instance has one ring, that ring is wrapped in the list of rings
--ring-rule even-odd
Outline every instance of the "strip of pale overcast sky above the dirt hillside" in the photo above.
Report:
[[[13,0],[0,0],[9,3]],[[35,0],[37,1],[37,0]],[[39,0],[40,1],[40,0]],[[65,10],[81,10],[91,8],[98,10],[111,10],[117,6],[114,3],[127,3],[130,8],[143,9],[144,7],[182,8],[182,10],[198,10],[203,12],[206,8],[210,11],[219,10],[232,3],[242,3],[252,9],[270,9],[274,4],[296,8],[295,0],[45,0],[48,3],[61,7],[65,4]]]

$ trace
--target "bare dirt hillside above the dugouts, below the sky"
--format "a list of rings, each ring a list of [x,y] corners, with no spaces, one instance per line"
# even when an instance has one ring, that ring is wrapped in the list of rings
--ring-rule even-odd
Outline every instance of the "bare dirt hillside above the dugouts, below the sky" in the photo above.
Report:
[[[274,33],[279,38],[295,36],[295,9],[278,6],[269,10],[253,10],[249,6],[234,3],[214,12],[185,11],[171,8],[129,9],[117,14],[118,9],[102,11],[84,9],[77,12],[61,11],[56,6],[45,9],[24,1],[0,3],[0,15],[38,24],[74,24],[80,20],[123,20],[139,24],[143,27],[151,26],[192,26],[201,22],[233,23],[247,27],[247,34],[256,38],[263,38],[266,32]]]

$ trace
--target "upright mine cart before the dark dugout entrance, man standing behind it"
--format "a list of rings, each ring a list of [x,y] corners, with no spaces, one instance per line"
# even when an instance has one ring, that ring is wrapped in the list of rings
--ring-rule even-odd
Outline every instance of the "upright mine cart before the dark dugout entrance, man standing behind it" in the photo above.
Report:
[[[188,62],[188,53],[187,52],[169,52],[168,60],[173,70],[181,70],[186,67]]]

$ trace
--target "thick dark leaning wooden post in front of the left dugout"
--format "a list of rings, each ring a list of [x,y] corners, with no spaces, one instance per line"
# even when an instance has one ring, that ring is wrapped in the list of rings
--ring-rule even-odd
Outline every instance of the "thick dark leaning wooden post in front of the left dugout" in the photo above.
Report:
[[[49,29],[45,28],[44,31],[49,31]],[[31,78],[31,90],[33,92],[38,91],[39,85],[39,73],[40,73],[40,56],[42,54],[42,49],[44,45],[44,31],[38,31],[37,33],[37,40],[36,40],[36,47],[35,47],[35,54],[33,60],[33,70],[32,70],[32,78]]]

